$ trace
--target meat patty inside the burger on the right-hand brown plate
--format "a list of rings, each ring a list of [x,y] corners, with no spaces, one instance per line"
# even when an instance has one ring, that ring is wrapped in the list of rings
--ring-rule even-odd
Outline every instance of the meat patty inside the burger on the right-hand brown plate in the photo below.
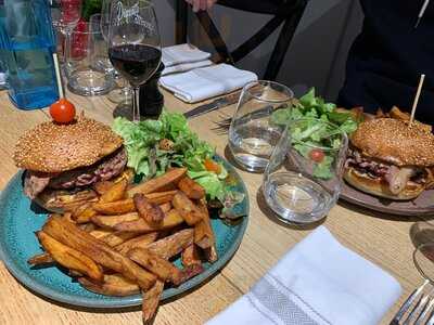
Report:
[[[400,171],[397,166],[366,158],[354,148],[348,150],[345,168],[348,167],[353,167],[372,179],[381,178],[387,183],[391,183]],[[416,168],[411,173],[410,180],[418,184],[424,184],[426,182],[426,171],[422,168]]]

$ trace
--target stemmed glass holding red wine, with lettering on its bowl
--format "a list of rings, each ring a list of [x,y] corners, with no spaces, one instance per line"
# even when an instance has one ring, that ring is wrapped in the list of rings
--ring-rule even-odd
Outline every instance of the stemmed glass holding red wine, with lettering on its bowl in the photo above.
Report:
[[[133,89],[132,120],[140,120],[139,90],[156,72],[162,46],[153,4],[146,0],[115,0],[108,27],[108,57]]]

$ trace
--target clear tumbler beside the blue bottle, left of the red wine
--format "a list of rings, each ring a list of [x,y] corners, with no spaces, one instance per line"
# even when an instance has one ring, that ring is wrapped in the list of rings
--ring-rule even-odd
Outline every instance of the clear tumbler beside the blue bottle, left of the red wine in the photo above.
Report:
[[[80,95],[101,95],[114,86],[110,66],[104,65],[106,42],[99,25],[84,23],[66,38],[68,89]],[[108,63],[108,61],[105,61]]]

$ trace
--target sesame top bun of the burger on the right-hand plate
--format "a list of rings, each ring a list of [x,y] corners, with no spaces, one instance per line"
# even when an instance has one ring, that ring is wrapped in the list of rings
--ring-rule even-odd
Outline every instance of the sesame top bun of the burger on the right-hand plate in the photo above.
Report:
[[[434,135],[422,123],[378,118],[359,125],[350,143],[363,156],[401,166],[434,166]]]

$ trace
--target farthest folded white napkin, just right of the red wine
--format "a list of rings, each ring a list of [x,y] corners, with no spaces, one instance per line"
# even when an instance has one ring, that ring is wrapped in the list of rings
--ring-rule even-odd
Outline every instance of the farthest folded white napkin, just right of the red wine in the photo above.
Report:
[[[208,52],[201,51],[191,44],[167,47],[162,50],[162,61],[166,67],[182,63],[204,61],[209,58],[209,56],[210,54]]]

